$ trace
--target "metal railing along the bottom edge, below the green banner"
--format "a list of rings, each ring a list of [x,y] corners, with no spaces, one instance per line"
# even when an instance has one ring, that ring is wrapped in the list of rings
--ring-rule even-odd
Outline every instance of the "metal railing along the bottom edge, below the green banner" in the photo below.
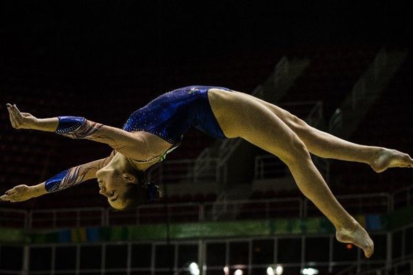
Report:
[[[408,228],[412,229],[413,225]],[[407,230],[408,228],[405,228]],[[390,238],[386,239],[385,243],[377,243],[377,246],[381,248],[385,246],[392,247],[393,239],[392,232],[376,232],[372,234],[372,238],[390,235]],[[321,245],[323,248],[324,256],[315,257],[314,249],[310,242],[314,240],[324,241],[326,245]],[[267,264],[258,259],[255,254],[255,248],[260,248],[260,245],[256,246],[255,242],[270,243],[266,245],[266,253],[271,256],[266,256]],[[319,274],[338,274],[338,275],[412,275],[413,259],[408,256],[403,261],[396,261],[392,258],[392,252],[390,250],[379,256],[377,259],[366,260],[360,251],[351,248],[350,253],[352,256],[347,259],[343,259],[339,254],[343,254],[343,250],[348,250],[344,246],[335,245],[335,237],[332,234],[300,234],[291,236],[262,236],[262,237],[244,237],[244,238],[224,238],[224,239],[199,239],[191,241],[117,241],[117,242],[94,242],[93,245],[100,250],[100,253],[94,256],[94,259],[98,259],[100,265],[91,267],[89,265],[83,266],[85,261],[89,261],[89,257],[82,256],[83,248],[91,245],[90,243],[33,243],[25,245],[21,252],[21,266],[14,265],[14,270],[0,269],[0,274],[151,274],[156,275],[158,273],[179,274],[178,272],[184,270],[187,263],[182,264],[177,261],[179,256],[179,250],[182,246],[191,246],[195,251],[191,261],[198,263],[200,267],[200,274],[206,275],[210,272],[218,274],[233,274],[237,269],[240,269],[244,274],[266,274],[268,267],[281,266],[283,267],[284,274],[300,274],[300,271],[304,268],[312,267],[319,270]],[[279,247],[284,243],[297,244],[292,245],[290,250],[295,251],[293,256],[290,256],[288,261],[284,256],[285,251],[280,250]],[[314,243],[314,242],[313,242]],[[142,245],[141,250],[134,250],[135,245]],[[168,245],[171,248],[171,252],[168,256],[171,258],[171,266],[165,267],[156,265],[158,261],[163,257],[165,259],[165,250],[159,250],[158,248],[165,248]],[[217,251],[217,245],[219,245],[220,253],[217,258],[222,260],[210,261],[209,257],[214,257],[213,252]],[[233,249],[231,245],[237,246],[240,249]],[[21,248],[21,245],[14,245],[15,248]],[[125,259],[123,263],[116,265],[116,267],[108,265],[109,261],[116,261],[114,258],[107,258],[107,252],[109,250],[118,248],[118,257]],[[67,248],[74,248],[70,252],[73,265],[63,266],[58,265],[57,262],[65,262],[62,257],[65,258],[65,252]],[[10,247],[8,245],[0,245],[0,252],[8,251]],[[40,249],[40,250],[39,250]],[[317,251],[317,250],[315,250]],[[319,251],[319,250],[318,250]],[[32,257],[31,254],[38,254],[37,257]],[[146,265],[134,265],[134,260],[140,254],[148,254],[149,261]],[[159,253],[159,254],[158,254]],[[243,257],[238,259],[237,262],[231,261],[236,256],[242,254]],[[32,265],[33,262],[39,261],[39,256],[50,257],[50,265],[43,266],[43,269],[39,269],[39,265]],[[405,255],[407,256],[407,255]],[[19,255],[16,255],[18,259]],[[268,259],[269,258],[269,259]],[[26,259],[26,261],[25,261]],[[47,259],[47,258],[46,258]],[[58,260],[59,259],[59,260]],[[317,259],[317,260],[314,260]],[[47,261],[48,262],[48,261]],[[346,268],[348,267],[348,268]],[[4,266],[3,266],[4,268]],[[41,267],[42,268],[42,267]],[[231,273],[229,272],[231,271]],[[337,273],[338,272],[338,273]]]

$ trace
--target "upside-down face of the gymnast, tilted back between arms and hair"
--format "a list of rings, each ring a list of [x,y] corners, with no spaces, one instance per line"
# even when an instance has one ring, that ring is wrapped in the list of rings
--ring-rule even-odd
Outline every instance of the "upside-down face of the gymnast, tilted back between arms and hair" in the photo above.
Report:
[[[96,173],[99,184],[99,193],[107,197],[107,202],[116,209],[126,206],[124,199],[131,175],[114,169],[102,168]]]

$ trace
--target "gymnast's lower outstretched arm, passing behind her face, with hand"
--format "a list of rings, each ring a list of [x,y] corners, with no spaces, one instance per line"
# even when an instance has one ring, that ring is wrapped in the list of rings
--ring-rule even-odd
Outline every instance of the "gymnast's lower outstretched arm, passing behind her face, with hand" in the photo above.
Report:
[[[114,157],[114,152],[104,159],[98,159],[94,162],[81,164],[64,170],[54,177],[47,179],[47,181],[43,181],[41,184],[35,186],[27,186],[25,184],[14,186],[14,188],[6,191],[0,199],[11,202],[25,201],[45,195],[48,192],[57,192],[75,186],[83,181],[87,181],[87,179],[94,179],[96,178],[96,172],[106,166],[112,157]]]

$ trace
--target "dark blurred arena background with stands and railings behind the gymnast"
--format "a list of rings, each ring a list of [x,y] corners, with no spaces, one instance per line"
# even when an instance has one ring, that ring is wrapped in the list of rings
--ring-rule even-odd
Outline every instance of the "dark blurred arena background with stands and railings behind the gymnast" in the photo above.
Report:
[[[412,155],[412,18],[411,1],[2,1],[0,192],[111,151],[12,129],[7,102],[121,127],[187,85]],[[158,203],[114,212],[96,181],[0,202],[0,274],[413,274],[412,171],[313,160],[371,233],[371,259],[335,241],[277,157],[191,129],[149,170]]]

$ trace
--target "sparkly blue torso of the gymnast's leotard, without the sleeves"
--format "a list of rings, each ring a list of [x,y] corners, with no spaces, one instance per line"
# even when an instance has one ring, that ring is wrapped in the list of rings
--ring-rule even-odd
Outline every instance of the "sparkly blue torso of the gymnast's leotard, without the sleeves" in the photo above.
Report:
[[[215,119],[208,99],[208,90],[224,87],[189,86],[158,96],[145,107],[131,114],[123,129],[145,131],[179,144],[191,126],[216,138],[226,138]]]

